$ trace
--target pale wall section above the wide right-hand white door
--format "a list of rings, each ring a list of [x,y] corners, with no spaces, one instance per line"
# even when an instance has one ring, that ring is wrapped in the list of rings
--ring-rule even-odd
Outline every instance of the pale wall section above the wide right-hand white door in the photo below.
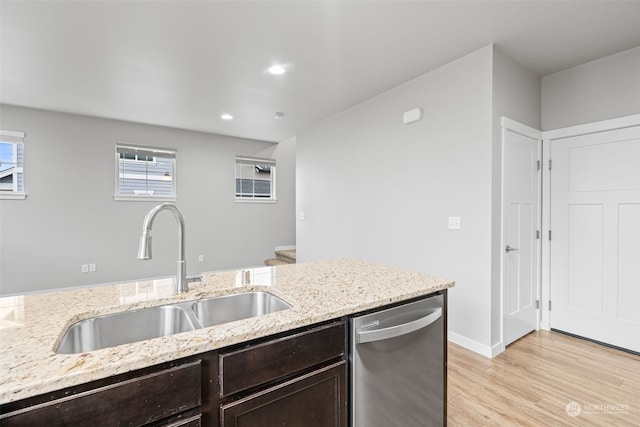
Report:
[[[542,129],[640,113],[640,46],[542,78]]]

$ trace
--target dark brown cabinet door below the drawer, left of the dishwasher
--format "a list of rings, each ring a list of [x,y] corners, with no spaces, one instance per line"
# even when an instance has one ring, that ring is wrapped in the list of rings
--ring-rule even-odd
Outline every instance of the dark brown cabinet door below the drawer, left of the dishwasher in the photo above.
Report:
[[[346,426],[346,362],[222,405],[221,427]]]

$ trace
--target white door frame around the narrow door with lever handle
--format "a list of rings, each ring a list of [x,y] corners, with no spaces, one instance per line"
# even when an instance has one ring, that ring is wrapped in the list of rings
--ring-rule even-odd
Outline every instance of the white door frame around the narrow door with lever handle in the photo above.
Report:
[[[519,135],[525,136],[527,138],[535,139],[538,141],[538,155],[540,157],[540,150],[542,150],[542,135],[543,132],[529,127],[523,123],[512,120],[508,117],[502,116],[500,118],[500,126],[501,126],[501,150],[502,150],[502,159],[501,159],[501,177],[500,177],[500,345],[499,348],[494,351],[493,357],[502,353],[505,350],[505,331],[506,331],[506,287],[505,287],[505,252],[503,248],[507,244],[505,241],[505,221],[506,221],[506,212],[505,212],[505,132],[511,131],[517,133]],[[540,157],[541,158],[541,157]],[[538,175],[538,230],[542,230],[542,174]],[[542,237],[542,236],[541,236]],[[537,251],[538,251],[538,260],[535,268],[538,271],[538,280],[536,283],[536,295],[538,296],[538,300],[540,300],[540,291],[541,291],[541,282],[540,279],[542,277],[541,271],[541,261],[542,261],[542,252],[541,252],[541,242],[542,239],[538,240]],[[540,310],[538,309],[538,315],[536,318],[536,330],[540,329]]]

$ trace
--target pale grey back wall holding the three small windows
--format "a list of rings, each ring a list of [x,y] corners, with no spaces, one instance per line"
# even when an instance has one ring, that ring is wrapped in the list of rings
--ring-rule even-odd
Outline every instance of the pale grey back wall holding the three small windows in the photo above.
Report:
[[[0,127],[23,131],[26,200],[0,201],[3,295],[175,274],[177,227],[161,213],[153,260],[135,259],[142,220],[158,202],[114,201],[114,143],[178,149],[177,205],[189,274],[262,265],[295,244],[295,139],[264,141],[0,106]],[[277,160],[276,204],[234,202],[236,154]],[[204,262],[198,262],[198,255]],[[95,273],[81,264],[97,263]]]

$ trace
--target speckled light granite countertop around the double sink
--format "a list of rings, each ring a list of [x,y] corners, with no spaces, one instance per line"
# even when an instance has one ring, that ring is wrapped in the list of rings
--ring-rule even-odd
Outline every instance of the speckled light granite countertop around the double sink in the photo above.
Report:
[[[245,269],[246,271],[247,269]],[[427,295],[454,283],[350,259],[205,273],[172,295],[174,279],[147,280],[0,298],[0,403],[59,390],[175,359]],[[293,307],[168,337],[80,354],[56,354],[78,320],[203,297],[263,290]],[[135,325],[132,325],[132,327]]]

